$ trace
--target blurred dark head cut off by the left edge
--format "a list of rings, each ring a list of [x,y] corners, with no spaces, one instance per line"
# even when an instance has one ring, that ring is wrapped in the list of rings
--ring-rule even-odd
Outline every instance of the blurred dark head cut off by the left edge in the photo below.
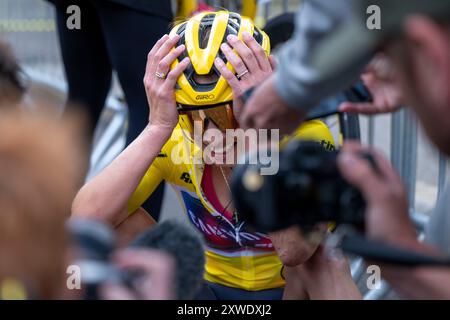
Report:
[[[22,70],[11,49],[0,42],[0,108],[21,100],[26,90],[21,75]]]

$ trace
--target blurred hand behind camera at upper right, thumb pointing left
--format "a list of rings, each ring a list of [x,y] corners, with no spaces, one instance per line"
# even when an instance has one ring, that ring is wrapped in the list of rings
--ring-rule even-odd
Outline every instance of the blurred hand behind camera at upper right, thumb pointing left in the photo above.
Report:
[[[383,54],[378,54],[361,78],[373,97],[373,102],[344,102],[341,112],[379,114],[397,111],[402,106],[401,89],[396,83],[395,66]]]

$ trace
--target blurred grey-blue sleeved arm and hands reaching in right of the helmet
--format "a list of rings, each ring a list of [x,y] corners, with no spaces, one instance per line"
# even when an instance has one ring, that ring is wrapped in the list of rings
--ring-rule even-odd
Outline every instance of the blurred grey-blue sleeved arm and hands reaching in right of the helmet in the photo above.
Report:
[[[292,132],[307,113],[323,100],[349,88],[360,77],[373,96],[364,105],[345,103],[342,112],[394,111],[401,99],[398,90],[386,80],[385,56],[369,52],[355,58],[355,68],[346,69],[336,61],[336,72],[324,73],[313,59],[325,41],[353,17],[357,0],[305,0],[299,8],[293,38],[279,53],[277,70],[255,86],[238,120],[243,127],[281,128]],[[372,63],[369,62],[372,60]],[[362,76],[361,76],[362,74]]]

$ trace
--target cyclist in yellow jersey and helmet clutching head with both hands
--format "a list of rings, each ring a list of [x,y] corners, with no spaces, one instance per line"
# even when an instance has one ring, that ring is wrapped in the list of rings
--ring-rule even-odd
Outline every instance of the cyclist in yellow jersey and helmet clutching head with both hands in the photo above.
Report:
[[[271,74],[269,52],[267,35],[232,12],[204,12],[175,26],[149,53],[144,78],[151,107],[148,127],[80,190],[73,215],[107,221],[124,236],[134,237],[154,223],[140,206],[164,179],[174,187],[190,222],[205,238],[205,280],[214,296],[281,299],[283,264],[304,263],[318,244],[306,241],[298,229],[271,237],[248,228],[233,207],[229,187],[236,138],[220,146],[225,131],[239,125],[234,113],[241,105],[233,97]],[[197,134],[200,131],[201,141],[193,136],[194,129]],[[208,131],[209,136],[220,134],[208,138]],[[333,145],[321,121],[305,123],[297,137]],[[213,152],[207,153],[208,149]],[[182,159],[177,158],[180,153]],[[194,162],[198,154],[199,163]],[[232,163],[226,161],[230,157]],[[326,227],[318,229],[326,232]],[[322,295],[302,298],[359,298],[346,261],[334,264],[321,257],[317,256],[321,271],[328,266],[328,279],[333,281],[314,282],[319,279],[316,268],[311,281]],[[341,295],[326,296],[335,293],[331,286],[341,286]],[[285,297],[294,298],[294,289],[287,291]]]

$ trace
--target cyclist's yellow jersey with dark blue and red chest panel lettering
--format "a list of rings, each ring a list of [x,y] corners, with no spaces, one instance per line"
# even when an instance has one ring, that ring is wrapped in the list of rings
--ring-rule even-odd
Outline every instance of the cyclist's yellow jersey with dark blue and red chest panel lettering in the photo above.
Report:
[[[305,122],[293,137],[334,148],[331,132],[318,120]],[[282,263],[269,237],[250,232],[243,221],[235,223],[206,199],[201,188],[205,165],[198,158],[194,161],[198,152],[201,150],[189,133],[178,124],[130,198],[128,212],[135,212],[164,180],[175,190],[190,222],[204,236],[207,281],[249,291],[283,287]],[[180,157],[184,161],[180,162]]]

